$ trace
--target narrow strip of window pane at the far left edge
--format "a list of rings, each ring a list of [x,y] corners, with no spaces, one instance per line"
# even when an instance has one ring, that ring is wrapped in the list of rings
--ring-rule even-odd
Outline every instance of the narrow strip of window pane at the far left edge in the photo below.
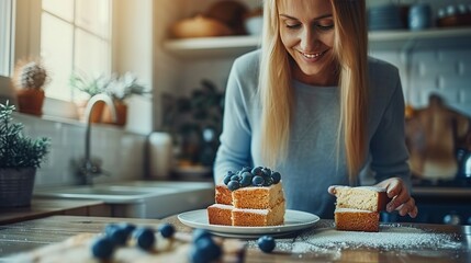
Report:
[[[0,1],[0,76],[11,72],[12,1]]]

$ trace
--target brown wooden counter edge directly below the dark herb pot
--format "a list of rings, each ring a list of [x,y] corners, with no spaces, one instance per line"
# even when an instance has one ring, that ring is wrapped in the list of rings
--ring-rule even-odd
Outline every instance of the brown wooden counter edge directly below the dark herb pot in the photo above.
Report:
[[[109,209],[101,201],[33,198],[29,207],[0,208],[0,225],[53,215],[109,216]]]

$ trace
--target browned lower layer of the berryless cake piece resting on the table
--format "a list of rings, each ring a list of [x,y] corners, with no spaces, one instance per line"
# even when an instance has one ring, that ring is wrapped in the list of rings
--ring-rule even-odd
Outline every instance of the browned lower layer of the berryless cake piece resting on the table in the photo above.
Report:
[[[378,232],[380,214],[371,210],[336,208],[335,225],[337,230]]]

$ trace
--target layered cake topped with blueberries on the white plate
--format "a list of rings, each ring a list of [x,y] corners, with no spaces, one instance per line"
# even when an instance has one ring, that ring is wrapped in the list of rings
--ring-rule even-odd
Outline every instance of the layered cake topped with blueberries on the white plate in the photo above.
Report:
[[[284,222],[284,194],[279,172],[269,168],[229,171],[215,187],[215,204],[208,207],[209,222],[226,226],[278,226]]]

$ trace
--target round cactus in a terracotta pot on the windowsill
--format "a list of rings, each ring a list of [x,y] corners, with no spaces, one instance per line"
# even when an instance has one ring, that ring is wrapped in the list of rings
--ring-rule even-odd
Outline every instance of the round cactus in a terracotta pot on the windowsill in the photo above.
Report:
[[[19,111],[36,116],[43,115],[44,85],[47,72],[38,60],[16,64],[13,76],[13,87],[16,90]]]

